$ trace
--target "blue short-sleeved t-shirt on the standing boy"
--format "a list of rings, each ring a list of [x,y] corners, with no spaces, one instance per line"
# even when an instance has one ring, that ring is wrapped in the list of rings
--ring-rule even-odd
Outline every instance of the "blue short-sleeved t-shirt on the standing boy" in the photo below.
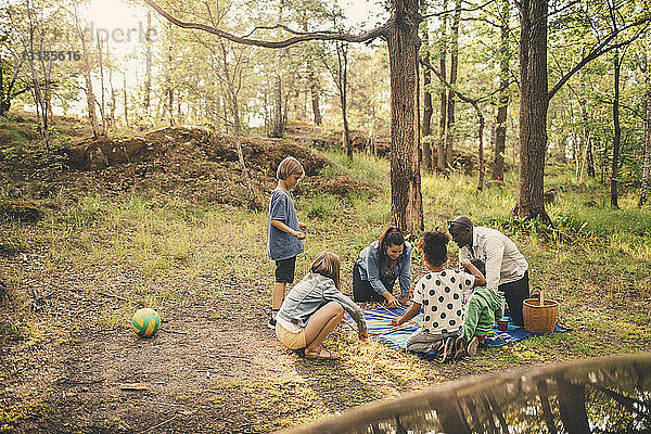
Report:
[[[280,220],[296,231],[301,230],[294,201],[292,201],[290,193],[282,189],[271,191],[271,199],[269,200],[267,254],[271,260],[282,260],[303,253],[303,242],[291,233],[275,228],[271,220]]]

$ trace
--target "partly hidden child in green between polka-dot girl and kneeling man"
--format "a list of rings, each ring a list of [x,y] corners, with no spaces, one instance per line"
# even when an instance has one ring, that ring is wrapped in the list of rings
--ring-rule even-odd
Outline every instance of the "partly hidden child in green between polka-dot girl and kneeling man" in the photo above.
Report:
[[[472,259],[471,265],[484,276],[486,266],[481,259]],[[485,283],[474,289],[465,305],[463,319],[463,341],[469,356],[477,354],[477,346],[484,341],[496,320],[503,315],[502,299],[494,289]]]

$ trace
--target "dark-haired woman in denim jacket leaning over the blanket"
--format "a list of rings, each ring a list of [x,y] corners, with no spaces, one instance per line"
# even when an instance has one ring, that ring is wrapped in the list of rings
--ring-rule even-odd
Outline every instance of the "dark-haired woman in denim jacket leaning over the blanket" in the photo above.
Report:
[[[390,307],[398,307],[400,301],[393,295],[396,280],[403,302],[409,304],[411,244],[398,228],[390,227],[359,253],[353,267],[353,298],[355,302],[386,299]]]

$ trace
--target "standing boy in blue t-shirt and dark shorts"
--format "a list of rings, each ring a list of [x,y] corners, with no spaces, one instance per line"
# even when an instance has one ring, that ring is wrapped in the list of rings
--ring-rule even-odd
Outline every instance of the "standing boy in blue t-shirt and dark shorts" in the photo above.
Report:
[[[305,224],[298,221],[290,190],[303,177],[303,165],[293,156],[280,162],[276,177],[278,186],[269,200],[269,221],[267,224],[267,254],[276,261],[276,283],[271,291],[271,318],[269,328],[276,330],[276,315],[282,305],[285,286],[294,281],[296,256],[304,252]]]

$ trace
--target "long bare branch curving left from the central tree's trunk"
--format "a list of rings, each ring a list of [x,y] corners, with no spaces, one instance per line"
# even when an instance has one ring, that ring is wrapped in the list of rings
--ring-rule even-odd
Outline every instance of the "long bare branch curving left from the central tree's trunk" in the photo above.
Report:
[[[255,47],[264,47],[264,48],[285,48],[285,47],[290,47],[290,46],[293,46],[298,42],[304,42],[304,41],[309,41],[309,40],[341,40],[341,41],[346,41],[346,42],[368,42],[378,37],[384,36],[385,28],[386,28],[386,24],[385,24],[384,26],[374,28],[373,30],[366,31],[360,35],[340,34],[340,33],[332,33],[332,31],[314,31],[314,33],[305,33],[305,34],[295,34],[296,36],[294,36],[292,38],[288,38],[288,39],[283,39],[283,40],[279,40],[279,41],[267,41],[267,40],[261,40],[261,39],[251,39],[247,37],[237,36],[237,35],[230,34],[228,31],[221,30],[219,28],[212,27],[212,26],[201,24],[201,23],[184,22],[184,21],[178,20],[178,18],[171,16],[169,13],[165,12],[153,0],[144,0],[144,2],[146,4],[149,4],[150,7],[152,7],[165,20],[169,21],[171,24],[174,24],[178,27],[203,30],[203,31],[216,35],[220,38],[228,39],[233,42],[242,43],[245,46],[255,46]],[[284,27],[284,26],[282,26],[282,27]]]

